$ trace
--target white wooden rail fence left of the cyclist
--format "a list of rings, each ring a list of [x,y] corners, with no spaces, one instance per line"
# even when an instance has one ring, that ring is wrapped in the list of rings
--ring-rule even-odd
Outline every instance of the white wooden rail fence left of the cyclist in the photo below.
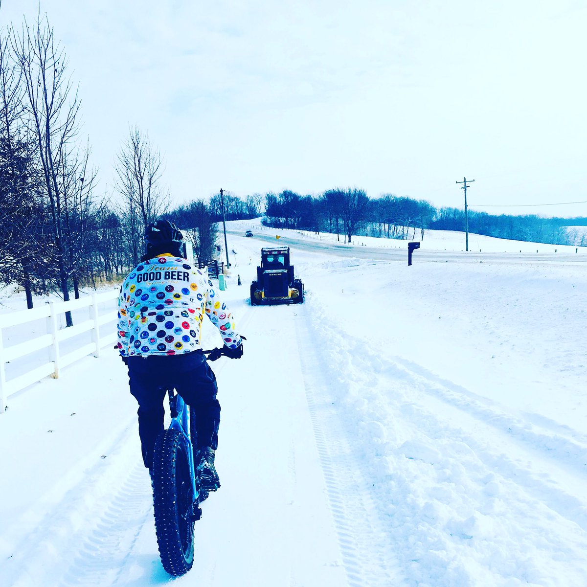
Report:
[[[112,312],[98,315],[98,304],[114,300],[118,296],[118,289],[112,289],[100,294],[92,295],[69,302],[48,302],[41,308],[22,310],[0,315],[0,413],[4,412],[6,399],[12,394],[38,382],[43,377],[59,377],[59,370],[71,365],[87,355],[100,356],[100,349],[106,345],[113,345],[116,340],[116,330],[109,329],[106,335],[100,336],[100,326],[112,322],[116,318],[115,308]],[[69,328],[59,328],[59,315],[65,312],[75,311],[80,308],[89,309],[89,318],[76,323]],[[3,330],[11,326],[23,325],[28,322],[46,318],[46,333],[35,338],[28,338],[12,346],[4,346]],[[92,342],[80,346],[72,352],[60,352],[60,344],[74,336],[84,332],[92,332]],[[49,362],[27,370],[26,373],[6,381],[5,364],[10,360],[19,359],[41,349],[49,349]]]

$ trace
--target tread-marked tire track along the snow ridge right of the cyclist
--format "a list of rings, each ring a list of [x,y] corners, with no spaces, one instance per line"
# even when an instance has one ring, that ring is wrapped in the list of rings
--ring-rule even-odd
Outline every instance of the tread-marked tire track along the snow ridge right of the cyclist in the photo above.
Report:
[[[330,510],[350,587],[390,587],[404,584],[400,565],[382,527],[370,488],[361,473],[352,442],[346,437],[333,402],[321,380],[321,369],[310,342],[304,308],[296,321],[299,359],[316,446],[328,489]],[[316,383],[316,392],[312,383]]]

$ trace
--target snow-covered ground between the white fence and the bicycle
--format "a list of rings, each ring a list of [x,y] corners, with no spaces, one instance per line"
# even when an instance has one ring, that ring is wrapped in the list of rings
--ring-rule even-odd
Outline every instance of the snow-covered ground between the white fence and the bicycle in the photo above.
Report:
[[[120,359],[106,354],[19,394],[6,412],[2,585],[110,585],[149,515],[136,407],[121,394]]]

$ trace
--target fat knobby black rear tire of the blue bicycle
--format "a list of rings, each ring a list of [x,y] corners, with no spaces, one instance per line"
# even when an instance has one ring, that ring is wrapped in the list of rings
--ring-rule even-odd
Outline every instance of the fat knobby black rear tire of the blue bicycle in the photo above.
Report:
[[[163,568],[173,576],[194,564],[194,496],[188,450],[177,430],[161,432],[153,456],[153,510]]]

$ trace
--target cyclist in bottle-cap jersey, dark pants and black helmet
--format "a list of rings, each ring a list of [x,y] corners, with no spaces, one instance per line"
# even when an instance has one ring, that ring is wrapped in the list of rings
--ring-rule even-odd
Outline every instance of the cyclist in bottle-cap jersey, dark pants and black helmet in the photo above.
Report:
[[[163,430],[166,389],[195,408],[195,464],[201,487],[215,491],[220,403],[214,372],[201,349],[204,314],[224,340],[224,355],[240,359],[242,338],[234,316],[203,272],[184,258],[183,235],[173,222],[147,225],[146,252],[120,288],[118,348],[139,403],[143,461],[152,476],[153,449]],[[218,358],[217,355],[212,360]]]

